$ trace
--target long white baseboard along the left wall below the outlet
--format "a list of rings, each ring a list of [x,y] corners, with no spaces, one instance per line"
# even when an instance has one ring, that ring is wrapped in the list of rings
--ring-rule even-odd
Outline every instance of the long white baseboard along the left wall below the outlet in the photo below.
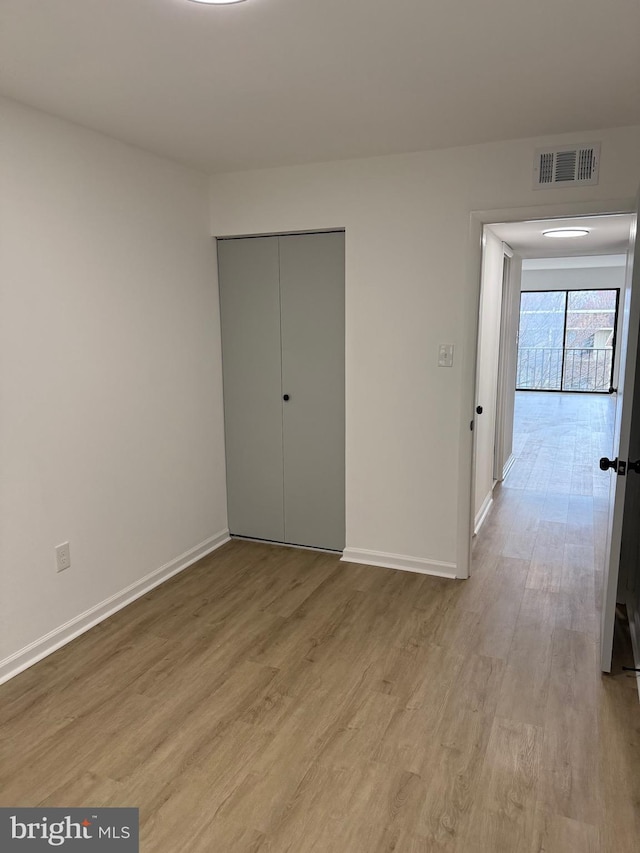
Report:
[[[18,675],[18,673],[33,666],[34,663],[70,643],[71,640],[79,637],[80,634],[84,634],[85,631],[93,628],[94,625],[103,622],[118,610],[122,610],[128,604],[131,604],[136,598],[140,598],[154,587],[160,586],[160,584],[169,578],[179,574],[188,566],[191,566],[202,557],[206,557],[207,554],[215,551],[216,548],[219,548],[228,541],[228,530],[223,530],[215,536],[205,539],[204,542],[185,551],[184,554],[176,557],[175,560],[165,563],[164,566],[140,578],[139,581],[131,584],[126,589],[101,601],[95,607],[91,607],[59,628],[50,631],[44,637],[40,637],[40,639],[0,661],[0,684],[3,684],[10,678]]]

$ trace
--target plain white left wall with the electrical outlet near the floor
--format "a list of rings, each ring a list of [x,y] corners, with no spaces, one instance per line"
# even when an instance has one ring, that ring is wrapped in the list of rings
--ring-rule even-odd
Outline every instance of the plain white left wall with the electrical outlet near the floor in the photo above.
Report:
[[[1,678],[227,522],[206,178],[0,111]]]

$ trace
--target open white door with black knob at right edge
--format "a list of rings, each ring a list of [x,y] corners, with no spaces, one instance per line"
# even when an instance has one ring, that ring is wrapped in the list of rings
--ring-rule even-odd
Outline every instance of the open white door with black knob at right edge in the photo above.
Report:
[[[637,553],[640,542],[640,525],[637,521],[623,525],[625,503],[632,500],[636,487],[634,479],[631,488],[627,488],[628,477],[640,477],[640,473],[629,470],[630,458],[636,444],[636,433],[640,420],[640,393],[634,395],[634,389],[640,390],[640,376],[637,376],[638,331],[640,326],[640,262],[634,264],[637,253],[637,219],[634,224],[629,247],[627,277],[624,296],[621,300],[622,340],[620,353],[620,374],[618,398],[616,402],[616,420],[611,460],[602,459],[600,467],[611,470],[611,492],[609,500],[609,528],[604,565],[604,597],[602,605],[602,630],[600,635],[600,666],[603,672],[611,672],[613,651],[613,629],[616,603],[618,599],[618,580],[622,553]],[[636,378],[638,386],[636,386]],[[635,396],[635,400],[634,400]],[[634,417],[634,409],[635,417]]]

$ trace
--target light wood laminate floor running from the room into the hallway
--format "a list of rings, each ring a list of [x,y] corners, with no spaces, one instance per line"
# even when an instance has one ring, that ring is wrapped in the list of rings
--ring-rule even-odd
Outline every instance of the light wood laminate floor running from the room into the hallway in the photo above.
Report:
[[[637,853],[611,418],[518,395],[467,582],[234,541],[0,687],[0,805],[138,806],[144,853]]]

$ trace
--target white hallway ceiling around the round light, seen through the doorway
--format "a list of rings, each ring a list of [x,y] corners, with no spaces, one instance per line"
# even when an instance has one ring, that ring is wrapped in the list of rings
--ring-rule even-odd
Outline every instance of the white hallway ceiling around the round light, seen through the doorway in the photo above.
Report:
[[[626,252],[634,220],[634,214],[619,214],[500,222],[490,228],[523,258],[567,258]],[[551,228],[586,228],[589,234],[562,240],[545,237],[542,232]]]

